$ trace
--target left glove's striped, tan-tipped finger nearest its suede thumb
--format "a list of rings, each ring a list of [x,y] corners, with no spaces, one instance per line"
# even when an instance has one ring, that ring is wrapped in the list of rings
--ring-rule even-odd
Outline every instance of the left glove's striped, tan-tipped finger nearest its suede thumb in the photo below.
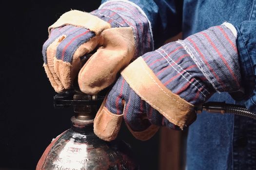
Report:
[[[85,28],[79,28],[59,44],[54,59],[54,68],[60,82],[65,89],[72,86],[73,80],[78,74],[80,68],[80,57],[87,52],[92,51],[98,42],[94,32]],[[93,43],[87,43],[89,40]],[[90,47],[92,46],[92,47]]]

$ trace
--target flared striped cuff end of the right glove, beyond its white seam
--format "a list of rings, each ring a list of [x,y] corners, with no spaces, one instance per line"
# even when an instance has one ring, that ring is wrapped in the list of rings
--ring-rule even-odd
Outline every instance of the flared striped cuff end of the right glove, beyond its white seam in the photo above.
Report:
[[[236,37],[229,28],[211,27],[179,42],[217,91],[233,92],[240,88]]]

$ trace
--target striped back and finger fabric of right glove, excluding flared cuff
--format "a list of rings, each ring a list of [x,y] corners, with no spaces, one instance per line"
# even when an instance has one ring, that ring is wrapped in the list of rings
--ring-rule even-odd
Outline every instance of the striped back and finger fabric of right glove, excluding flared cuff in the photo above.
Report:
[[[187,51],[177,42],[145,53],[142,58],[168,89],[192,104],[205,102],[215,92]],[[125,108],[122,100],[125,101]],[[143,131],[151,124],[179,129],[141,100],[122,76],[108,94],[105,107],[111,113],[123,114],[126,124],[133,131]]]

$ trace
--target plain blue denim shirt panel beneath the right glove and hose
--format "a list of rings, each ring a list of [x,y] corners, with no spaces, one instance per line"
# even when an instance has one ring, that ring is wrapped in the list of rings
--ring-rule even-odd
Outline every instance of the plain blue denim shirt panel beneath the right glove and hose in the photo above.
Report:
[[[215,93],[209,101],[233,103],[228,93]],[[187,170],[232,170],[234,115],[202,112],[190,125]]]

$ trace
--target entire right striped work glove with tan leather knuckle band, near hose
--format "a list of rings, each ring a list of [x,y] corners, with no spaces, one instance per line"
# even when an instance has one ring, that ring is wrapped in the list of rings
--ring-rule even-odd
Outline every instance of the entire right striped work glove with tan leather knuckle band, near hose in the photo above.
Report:
[[[184,129],[196,119],[195,106],[216,91],[240,89],[236,30],[224,23],[148,52],[121,71],[94,120],[103,140],[118,135],[124,119],[140,140],[159,126]]]

